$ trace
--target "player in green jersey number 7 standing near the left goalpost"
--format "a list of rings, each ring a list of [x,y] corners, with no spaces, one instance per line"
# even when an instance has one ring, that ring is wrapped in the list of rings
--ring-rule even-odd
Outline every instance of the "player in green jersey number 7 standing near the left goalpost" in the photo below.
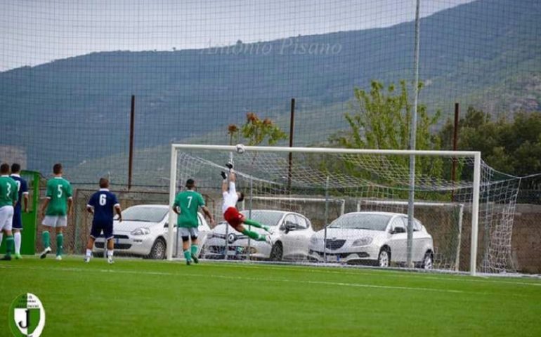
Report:
[[[177,227],[182,237],[182,249],[186,258],[186,264],[191,265],[192,260],[195,263],[199,263],[199,259],[197,258],[197,236],[199,234],[197,230],[197,227],[199,227],[197,211],[201,207],[213,225],[214,216],[209,212],[207,206],[204,206],[202,195],[199,192],[195,192],[195,181],[193,179],[186,180],[186,189],[176,195],[173,211],[178,214]],[[192,239],[191,248],[190,239]]]

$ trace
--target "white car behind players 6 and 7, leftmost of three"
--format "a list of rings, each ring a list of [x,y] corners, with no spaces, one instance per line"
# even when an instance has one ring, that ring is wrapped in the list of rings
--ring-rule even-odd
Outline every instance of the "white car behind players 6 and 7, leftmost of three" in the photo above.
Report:
[[[175,216],[176,218],[176,216]],[[204,244],[210,227],[201,213],[199,218],[199,243]],[[143,256],[146,258],[163,259],[167,256],[167,238],[169,230],[169,206],[167,205],[137,205],[122,211],[122,223],[115,220],[113,234],[115,235],[115,254]],[[174,226],[174,254],[180,250],[182,255],[182,239],[177,236]],[[94,244],[95,253],[103,253],[104,238],[99,237]]]

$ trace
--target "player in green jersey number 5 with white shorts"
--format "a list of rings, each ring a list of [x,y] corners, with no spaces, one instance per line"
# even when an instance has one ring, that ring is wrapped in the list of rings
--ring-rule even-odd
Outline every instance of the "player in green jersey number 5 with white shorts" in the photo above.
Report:
[[[41,207],[41,215],[44,216],[41,222],[46,228],[41,234],[44,251],[40,258],[45,258],[51,253],[51,242],[49,228],[56,228],[56,259],[62,260],[64,235],[63,228],[67,226],[67,215],[72,213],[72,185],[62,178],[62,164],[54,164],[54,178],[47,181],[46,199]]]

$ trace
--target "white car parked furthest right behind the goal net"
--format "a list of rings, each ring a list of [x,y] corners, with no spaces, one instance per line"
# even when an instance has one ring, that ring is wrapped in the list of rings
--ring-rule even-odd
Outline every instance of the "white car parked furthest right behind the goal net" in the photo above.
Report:
[[[341,263],[370,263],[388,267],[407,260],[408,216],[402,213],[354,212],[334,220],[310,240],[311,260]],[[324,254],[325,252],[325,254]],[[415,219],[412,260],[417,267],[432,269],[432,236]]]

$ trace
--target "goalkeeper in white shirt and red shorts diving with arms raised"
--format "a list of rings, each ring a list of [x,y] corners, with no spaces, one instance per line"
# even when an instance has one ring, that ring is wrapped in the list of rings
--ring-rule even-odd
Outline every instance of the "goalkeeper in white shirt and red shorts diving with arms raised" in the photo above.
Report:
[[[247,235],[248,237],[257,240],[257,241],[266,241],[269,244],[271,244],[271,237],[270,235],[265,234],[259,234],[257,232],[253,232],[252,230],[247,230],[247,228],[243,225],[251,225],[258,228],[263,228],[268,233],[271,233],[271,230],[266,225],[261,225],[261,223],[258,223],[254,220],[245,218],[242,213],[237,211],[237,208],[235,207],[237,205],[237,201],[242,201],[245,199],[245,195],[242,192],[237,192],[235,189],[235,173],[233,172],[233,164],[226,164],[229,168],[229,186],[228,186],[228,177],[225,172],[221,172],[221,176],[223,178],[223,183],[221,185],[222,195],[223,195],[223,206],[222,206],[222,212],[223,212],[223,218],[226,219],[226,221],[231,225],[231,227],[235,228],[237,232],[241,232],[242,234]]]

